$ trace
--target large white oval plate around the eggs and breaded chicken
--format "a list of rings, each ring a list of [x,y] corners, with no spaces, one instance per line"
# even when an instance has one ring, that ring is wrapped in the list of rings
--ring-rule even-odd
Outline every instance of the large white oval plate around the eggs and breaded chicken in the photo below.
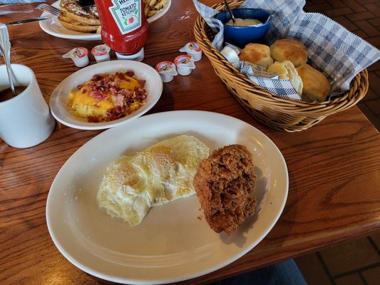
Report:
[[[210,229],[196,195],[153,207],[137,227],[98,207],[96,194],[110,162],[181,134],[194,135],[210,150],[239,143],[253,154],[257,212],[232,237]],[[287,191],[284,157],[252,125],[204,111],[155,113],[106,130],[77,150],[51,185],[46,221],[58,250],[88,274],[124,284],[165,284],[210,273],[249,252],[277,222]]]

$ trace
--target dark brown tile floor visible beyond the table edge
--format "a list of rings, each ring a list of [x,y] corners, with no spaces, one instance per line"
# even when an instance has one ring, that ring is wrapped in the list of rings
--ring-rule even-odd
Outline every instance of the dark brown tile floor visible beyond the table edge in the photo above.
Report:
[[[305,11],[323,13],[380,48],[380,0],[307,0]],[[380,61],[368,68],[369,92],[358,106],[380,132]],[[380,230],[295,259],[309,285],[379,285]]]

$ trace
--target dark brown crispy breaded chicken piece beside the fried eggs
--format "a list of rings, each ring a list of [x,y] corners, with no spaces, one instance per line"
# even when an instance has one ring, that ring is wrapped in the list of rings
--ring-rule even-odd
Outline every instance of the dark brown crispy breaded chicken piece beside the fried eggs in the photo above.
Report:
[[[232,235],[255,212],[255,166],[244,145],[227,145],[203,160],[194,177],[194,187],[215,232]]]

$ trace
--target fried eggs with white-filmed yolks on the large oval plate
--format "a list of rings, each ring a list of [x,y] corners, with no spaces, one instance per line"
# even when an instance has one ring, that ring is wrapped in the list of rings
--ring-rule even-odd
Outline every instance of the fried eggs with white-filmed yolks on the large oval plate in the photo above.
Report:
[[[140,224],[150,207],[195,194],[192,180],[209,152],[194,136],[180,135],[122,155],[106,169],[98,204],[131,226]]]

